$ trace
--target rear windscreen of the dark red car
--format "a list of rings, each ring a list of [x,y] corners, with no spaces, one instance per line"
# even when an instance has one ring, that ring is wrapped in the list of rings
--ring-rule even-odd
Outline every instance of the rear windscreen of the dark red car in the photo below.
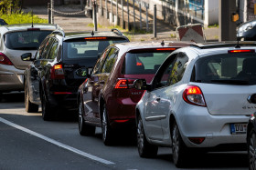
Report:
[[[140,53],[127,53],[123,75],[152,75],[172,51],[157,52],[144,50]]]

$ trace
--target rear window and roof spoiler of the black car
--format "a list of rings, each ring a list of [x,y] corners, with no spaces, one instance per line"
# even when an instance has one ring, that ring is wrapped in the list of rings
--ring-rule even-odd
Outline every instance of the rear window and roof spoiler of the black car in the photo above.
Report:
[[[128,40],[118,37],[107,37],[105,40],[85,40],[84,38],[79,38],[65,41],[63,43],[63,58],[64,60],[97,59],[109,45],[123,42],[128,42]]]

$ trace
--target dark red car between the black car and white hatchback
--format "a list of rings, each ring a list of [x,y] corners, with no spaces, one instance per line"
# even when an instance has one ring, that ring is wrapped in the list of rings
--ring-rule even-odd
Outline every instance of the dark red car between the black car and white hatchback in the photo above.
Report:
[[[181,42],[123,43],[102,53],[91,75],[78,91],[80,135],[102,129],[105,145],[111,145],[117,129],[135,127],[135,105],[144,94],[133,87],[138,78],[150,83],[158,67]]]

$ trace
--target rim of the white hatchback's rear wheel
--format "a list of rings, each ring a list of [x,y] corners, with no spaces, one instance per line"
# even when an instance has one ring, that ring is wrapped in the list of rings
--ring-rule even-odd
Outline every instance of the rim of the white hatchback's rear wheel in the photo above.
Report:
[[[173,129],[173,137],[172,137],[172,150],[173,150],[173,158],[174,158],[174,162],[176,163],[178,160],[178,156],[179,156],[179,134],[178,134],[178,129],[177,126],[174,126]]]

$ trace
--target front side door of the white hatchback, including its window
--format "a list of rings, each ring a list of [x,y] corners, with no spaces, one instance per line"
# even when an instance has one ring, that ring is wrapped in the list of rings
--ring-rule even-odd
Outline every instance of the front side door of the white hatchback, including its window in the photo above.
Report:
[[[153,140],[163,140],[162,120],[166,119],[166,112],[171,106],[169,99],[165,96],[170,93],[167,87],[175,60],[176,55],[171,55],[159,68],[152,83],[153,90],[148,92],[145,102],[146,133]]]

